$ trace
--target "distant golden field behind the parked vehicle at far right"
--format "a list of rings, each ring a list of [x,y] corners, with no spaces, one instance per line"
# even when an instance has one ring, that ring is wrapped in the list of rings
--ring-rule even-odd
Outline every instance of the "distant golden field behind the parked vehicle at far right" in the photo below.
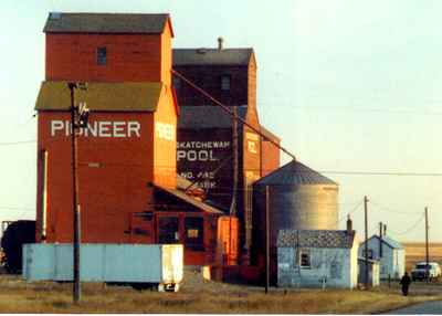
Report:
[[[423,242],[404,242],[406,247],[406,266],[410,271],[419,261],[425,260],[425,243]],[[442,243],[429,244],[430,261],[435,261],[442,265]]]

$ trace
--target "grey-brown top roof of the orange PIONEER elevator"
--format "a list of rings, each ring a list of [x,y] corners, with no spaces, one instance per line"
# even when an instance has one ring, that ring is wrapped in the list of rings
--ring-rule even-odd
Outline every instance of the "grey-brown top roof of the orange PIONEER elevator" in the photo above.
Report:
[[[169,14],[53,12],[48,17],[43,32],[159,34],[168,20]]]

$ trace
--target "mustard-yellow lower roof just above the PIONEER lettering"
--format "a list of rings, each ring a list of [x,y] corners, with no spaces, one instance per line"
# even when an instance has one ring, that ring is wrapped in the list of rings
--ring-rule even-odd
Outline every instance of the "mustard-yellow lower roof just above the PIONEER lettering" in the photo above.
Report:
[[[155,112],[162,93],[162,83],[87,83],[85,91],[75,89],[75,104],[85,102],[91,110]],[[36,110],[67,110],[71,92],[67,82],[42,83],[36,98]]]

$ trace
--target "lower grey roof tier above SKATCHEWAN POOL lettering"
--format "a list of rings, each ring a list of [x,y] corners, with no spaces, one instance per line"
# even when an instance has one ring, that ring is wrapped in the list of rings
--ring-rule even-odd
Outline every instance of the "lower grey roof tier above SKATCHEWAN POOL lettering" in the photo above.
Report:
[[[245,119],[246,106],[238,106],[238,115]],[[178,128],[229,128],[232,126],[232,116],[219,106],[180,106]]]

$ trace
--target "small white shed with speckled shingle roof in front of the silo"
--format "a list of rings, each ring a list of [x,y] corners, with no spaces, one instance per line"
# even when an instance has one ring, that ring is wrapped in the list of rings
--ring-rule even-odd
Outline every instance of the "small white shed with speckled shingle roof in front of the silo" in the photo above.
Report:
[[[358,241],[352,230],[281,230],[277,286],[354,288]]]

